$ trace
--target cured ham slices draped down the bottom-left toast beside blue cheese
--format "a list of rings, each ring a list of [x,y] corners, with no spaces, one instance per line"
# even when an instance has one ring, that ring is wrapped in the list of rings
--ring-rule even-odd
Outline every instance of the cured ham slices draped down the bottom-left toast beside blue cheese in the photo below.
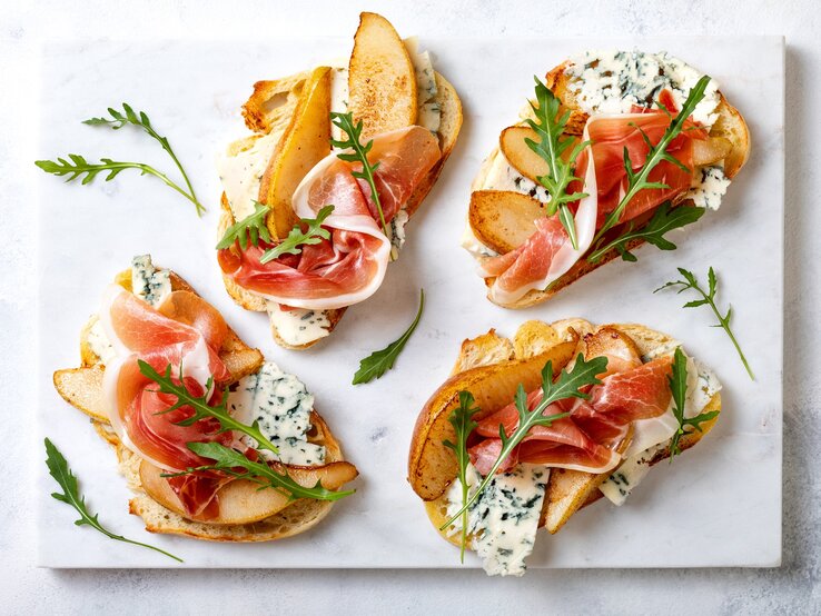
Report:
[[[233,434],[220,433],[216,419],[179,425],[194,409],[182,406],[170,410],[177,397],[157,391],[157,384],[144,376],[138,365],[146,361],[160,374],[170,366],[175,381],[192,396],[208,395],[209,404],[219,404],[222,387],[230,379],[218,355],[228,326],[214,307],[192,292],[174,291],[155,309],[115,285],[103,297],[100,322],[117,350],[103,376],[109,419],[129,449],[174,471],[209,464],[194,454],[188,443],[234,444]],[[217,473],[197,473],[169,478],[168,483],[186,511],[207,518],[216,516],[215,495],[228,480]]]

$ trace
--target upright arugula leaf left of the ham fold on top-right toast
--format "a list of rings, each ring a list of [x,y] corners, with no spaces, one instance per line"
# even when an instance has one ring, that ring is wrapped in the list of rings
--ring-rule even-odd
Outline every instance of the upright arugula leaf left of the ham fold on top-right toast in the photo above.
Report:
[[[576,223],[567,203],[577,201],[587,196],[586,192],[567,193],[567,186],[574,181],[582,181],[573,172],[575,160],[590,141],[580,142],[573,148],[570,159],[564,160],[562,155],[573,145],[574,139],[567,137],[562,139],[564,128],[570,119],[570,110],[560,115],[561,103],[553,92],[536,77],[536,103],[531,101],[531,108],[536,120],[527,119],[530,127],[540,137],[538,141],[525,139],[525,143],[547,163],[547,173],[536,178],[547,189],[551,200],[547,203],[547,216],[554,216],[558,211],[562,226],[567,231],[574,249],[578,249],[576,237]]]

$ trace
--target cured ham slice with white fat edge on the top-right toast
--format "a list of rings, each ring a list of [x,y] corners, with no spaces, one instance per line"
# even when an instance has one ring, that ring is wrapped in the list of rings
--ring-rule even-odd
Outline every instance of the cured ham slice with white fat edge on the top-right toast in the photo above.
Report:
[[[580,155],[575,170],[577,177],[584,178],[583,187],[577,188],[587,197],[570,206],[575,218],[578,249],[573,249],[558,213],[536,220],[536,230],[525,244],[482,262],[481,275],[494,279],[489,289],[494,301],[512,304],[533,289],[547,288],[586,252],[595,232],[603,227],[607,215],[616,209],[627,189],[625,150],[632,169],[641,169],[650,151],[647,141],[659,143],[676,112],[667,90],[662,91],[660,102],[666,111],[636,107],[632,113],[595,115],[587,119],[582,139],[591,145]],[[649,182],[666,185],[667,188],[641,190],[624,208],[620,223],[640,218],[690,188],[694,139],[706,139],[706,131],[688,119],[684,129],[666,148],[679,165],[662,160],[647,178]]]

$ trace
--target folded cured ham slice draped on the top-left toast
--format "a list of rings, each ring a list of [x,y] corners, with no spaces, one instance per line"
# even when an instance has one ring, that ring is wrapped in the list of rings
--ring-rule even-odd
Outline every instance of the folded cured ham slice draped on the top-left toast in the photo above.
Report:
[[[439,157],[436,138],[421,127],[374,138],[368,160],[378,163],[375,186],[387,225]],[[284,307],[327,310],[370,297],[385,276],[392,246],[368,183],[352,175],[359,170],[359,165],[332,152],[294,192],[293,207],[299,218],[316,218],[323,207],[334,206],[323,225],[328,239],[266,264],[260,258],[273,244],[260,241],[243,249],[237,242],[218,254],[222,272],[244,289]]]

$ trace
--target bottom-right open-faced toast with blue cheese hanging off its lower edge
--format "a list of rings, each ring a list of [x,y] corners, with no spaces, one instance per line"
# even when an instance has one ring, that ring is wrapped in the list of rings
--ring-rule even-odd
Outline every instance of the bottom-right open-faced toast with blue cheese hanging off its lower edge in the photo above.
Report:
[[[715,375],[640,325],[527,321],[465,340],[425,405],[408,480],[444,538],[491,575],[522,575],[536,530],[602,497],[621,505],[721,410]]]

